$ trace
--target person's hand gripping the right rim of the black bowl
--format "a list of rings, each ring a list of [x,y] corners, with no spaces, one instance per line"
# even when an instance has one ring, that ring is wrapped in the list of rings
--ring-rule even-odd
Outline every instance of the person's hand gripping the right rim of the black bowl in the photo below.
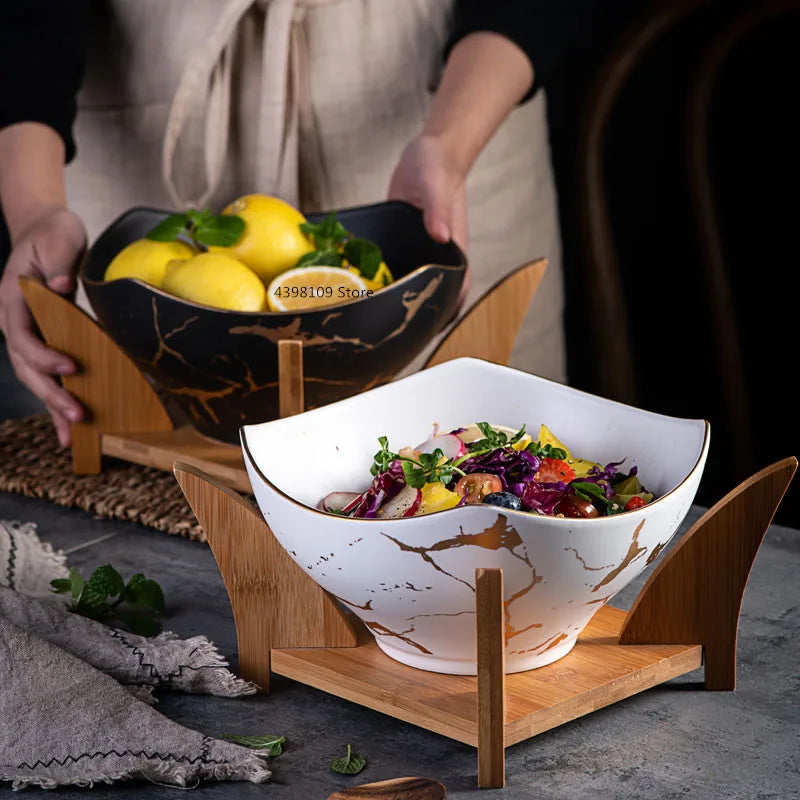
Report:
[[[453,239],[467,247],[466,176],[436,136],[412,139],[403,151],[389,185],[390,200],[419,208],[425,228],[437,242]]]

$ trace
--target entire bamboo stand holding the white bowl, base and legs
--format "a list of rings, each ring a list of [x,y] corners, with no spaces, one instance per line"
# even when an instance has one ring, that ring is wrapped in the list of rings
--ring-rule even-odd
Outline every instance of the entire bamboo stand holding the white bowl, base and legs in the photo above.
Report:
[[[191,465],[175,476],[228,590],[242,676],[270,672],[478,749],[478,785],[505,783],[505,748],[705,666],[705,686],[736,686],[736,635],[747,577],[797,469],[753,475],[687,531],[631,610],[604,606],[572,652],[506,675],[503,576],[477,569],[477,677],[442,675],[385,655],[361,622],[291,558],[258,510]]]

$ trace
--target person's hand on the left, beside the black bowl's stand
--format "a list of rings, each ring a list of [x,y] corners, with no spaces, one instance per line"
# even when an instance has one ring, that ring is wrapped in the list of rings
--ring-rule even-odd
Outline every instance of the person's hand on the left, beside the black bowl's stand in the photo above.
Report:
[[[86,231],[80,218],[61,205],[46,207],[14,237],[0,280],[0,328],[14,372],[47,406],[58,440],[65,447],[71,440],[70,425],[83,418],[83,409],[54,376],[73,374],[75,364],[42,342],[19,278],[36,278],[53,291],[71,296],[75,290],[75,267],[85,247]]]

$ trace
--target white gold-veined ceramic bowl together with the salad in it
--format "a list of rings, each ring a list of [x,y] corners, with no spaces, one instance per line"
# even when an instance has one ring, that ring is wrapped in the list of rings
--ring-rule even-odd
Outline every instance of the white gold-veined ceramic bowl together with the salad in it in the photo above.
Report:
[[[664,551],[709,447],[703,420],[468,358],[241,437],[264,519],[303,572],[391,658],[460,675],[476,670],[476,569],[503,573],[507,672],[566,656]]]

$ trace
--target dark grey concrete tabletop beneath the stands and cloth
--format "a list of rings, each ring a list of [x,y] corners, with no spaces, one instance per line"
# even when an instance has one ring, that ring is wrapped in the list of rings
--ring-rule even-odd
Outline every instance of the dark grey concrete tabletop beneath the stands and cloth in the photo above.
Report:
[[[684,530],[699,513],[692,510]],[[0,519],[36,522],[41,538],[84,573],[111,563],[126,576],[155,578],[167,597],[165,627],[209,636],[235,668],[233,616],[206,545],[6,494]],[[614,604],[628,607],[646,574]],[[161,692],[158,708],[210,736],[278,733],[288,740],[272,761],[270,783],[208,782],[194,789],[200,797],[316,800],[405,775],[435,778],[456,799],[800,797],[798,574],[800,533],[774,526],[744,598],[736,692],[706,692],[698,670],[514,745],[506,753],[505,790],[477,789],[473,748],[282,678],[270,695],[246,699]],[[368,761],[353,777],[329,768],[348,743]],[[53,793],[61,800],[176,796],[140,781]]]

